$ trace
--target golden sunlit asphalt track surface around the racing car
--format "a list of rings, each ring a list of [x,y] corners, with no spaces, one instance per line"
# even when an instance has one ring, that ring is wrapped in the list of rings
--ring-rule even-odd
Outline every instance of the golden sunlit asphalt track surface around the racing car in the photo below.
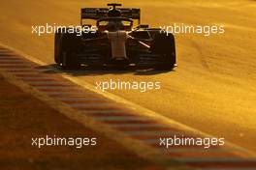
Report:
[[[0,42],[53,64],[53,35],[31,34],[32,25],[77,25],[80,8],[105,7],[98,0],[1,2]],[[114,1],[142,9],[151,26],[186,23],[225,26],[224,35],[176,36],[178,68],[170,72],[77,71],[97,81],[160,81],[159,91],[113,94],[177,122],[256,152],[256,2],[252,0]]]

